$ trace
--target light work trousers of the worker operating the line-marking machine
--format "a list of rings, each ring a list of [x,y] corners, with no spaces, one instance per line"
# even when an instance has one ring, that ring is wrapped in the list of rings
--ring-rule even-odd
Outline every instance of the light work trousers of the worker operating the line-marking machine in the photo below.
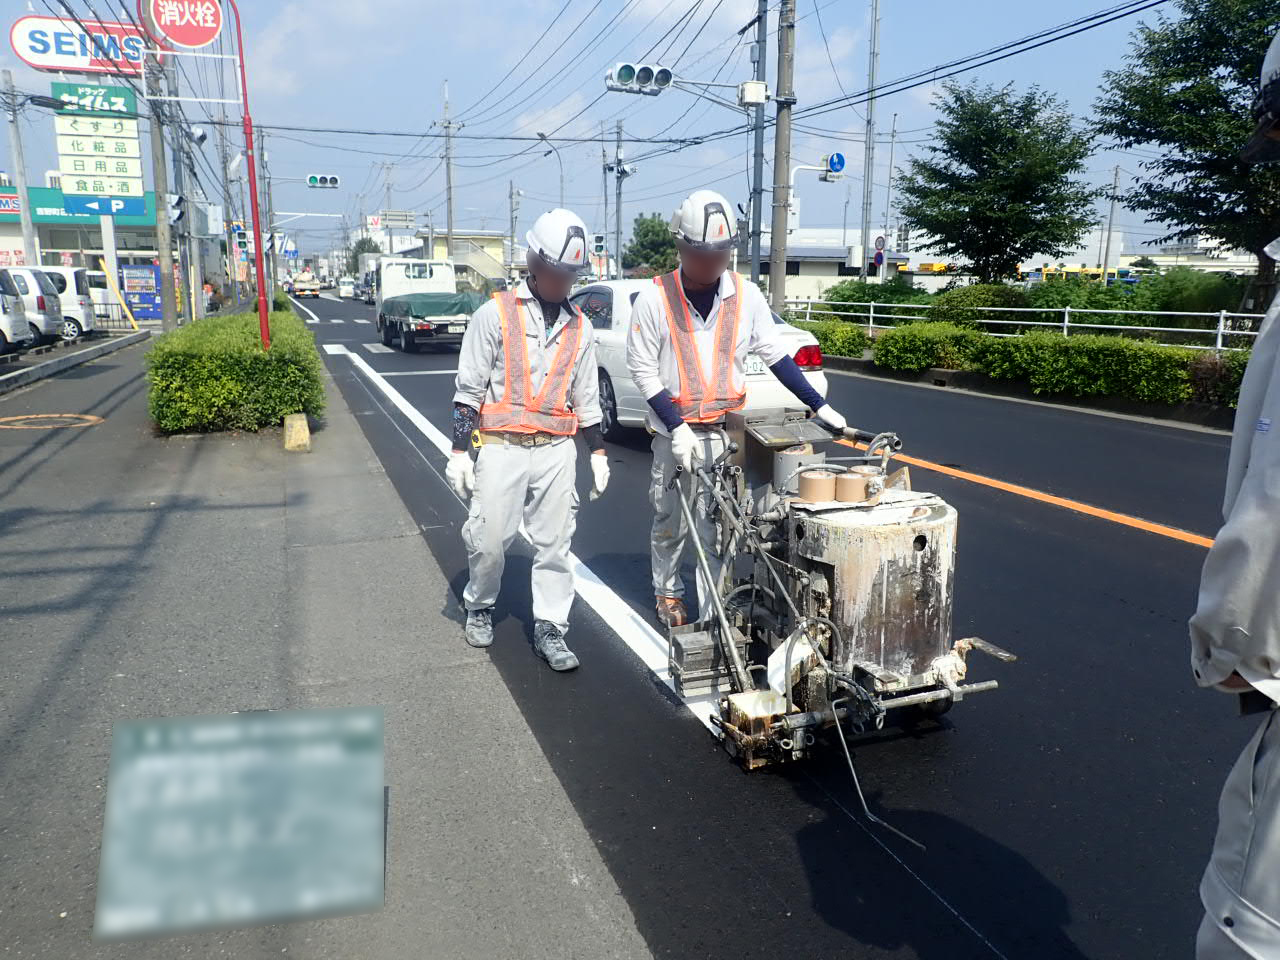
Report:
[[[724,452],[724,434],[716,431],[694,431],[698,436],[699,449],[703,453],[703,465],[710,463]],[[689,525],[685,522],[685,513],[680,507],[680,497],[673,489],[667,489],[671,477],[676,475],[676,460],[671,456],[671,438],[664,434],[653,436],[653,467],[650,471],[649,503],[653,504],[653,535],[650,538],[650,553],[653,561],[653,591],[655,596],[684,596],[685,585],[680,579],[680,562],[685,554],[685,545],[689,543]],[[695,465],[696,466],[696,465]],[[699,543],[707,550],[707,559],[712,568],[712,576],[717,580],[721,575],[722,561],[717,553],[716,521],[712,518],[712,498],[701,484],[694,485],[691,476],[684,476],[680,481],[686,495],[694,490],[699,495],[690,498],[690,507],[694,512],[694,524]],[[695,559],[696,562],[696,559]],[[710,609],[708,596],[710,585],[703,577],[701,567],[698,567],[698,614],[705,618]]]

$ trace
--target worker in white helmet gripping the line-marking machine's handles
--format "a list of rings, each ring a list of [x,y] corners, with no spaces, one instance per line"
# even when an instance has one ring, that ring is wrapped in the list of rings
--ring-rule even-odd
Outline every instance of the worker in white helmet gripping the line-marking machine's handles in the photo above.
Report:
[[[680,268],[654,279],[636,297],[627,332],[627,369],[649,402],[653,468],[652,571],[659,622],[689,622],[680,563],[689,539],[680,500],[668,489],[676,466],[687,471],[724,451],[724,415],[746,402],[746,355],[755,353],[774,376],[833,429],[845,419],[800,372],[773,323],[764,294],[728,269],[737,242],[737,220],[719,193],[690,195],[671,219]],[[686,489],[695,489],[687,488]],[[716,531],[707,495],[698,497],[695,535],[717,575]],[[698,572],[698,598],[705,613],[712,584]]]

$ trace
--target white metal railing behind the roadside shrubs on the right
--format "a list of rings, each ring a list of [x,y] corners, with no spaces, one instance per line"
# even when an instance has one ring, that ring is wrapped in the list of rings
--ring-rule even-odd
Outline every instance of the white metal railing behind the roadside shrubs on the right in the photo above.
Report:
[[[929,311],[934,307],[931,303],[841,303],[829,300],[788,300],[787,310],[791,316],[796,320],[812,320],[812,319],[824,319],[820,315],[829,314],[841,320],[847,320],[850,323],[856,323],[859,325],[867,326],[868,333],[876,330],[888,330],[904,321],[914,320],[929,320]],[[1257,328],[1262,319],[1262,314],[1233,314],[1228,310],[1220,310],[1216,314],[1196,314],[1184,311],[1171,311],[1171,310],[1082,310],[1078,307],[964,307],[965,310],[973,310],[980,314],[1039,314],[1042,316],[1048,315],[1053,319],[1032,319],[1027,320],[997,320],[995,316],[992,319],[982,319],[978,323],[984,328],[989,326],[1015,326],[1015,328],[1044,328],[1050,330],[1061,332],[1064,335],[1070,335],[1073,332],[1078,333],[1106,333],[1115,337],[1132,337],[1139,335],[1144,337],[1147,334],[1180,334],[1180,335],[1193,335],[1196,338],[1203,338],[1204,343],[1164,343],[1166,347],[1183,347],[1185,349],[1213,349],[1213,351],[1231,351],[1231,349],[1247,349],[1245,346],[1231,346],[1228,343],[1229,338],[1233,337],[1248,337],[1254,338],[1258,335]],[[818,317],[814,317],[818,314]],[[1079,320],[1078,317],[1085,316],[1085,320]],[[1164,317],[1164,316],[1178,316],[1178,317],[1202,317],[1206,320],[1203,326],[1142,326],[1130,325],[1124,323],[1089,323],[1088,317],[1094,315],[1114,315],[1114,316],[1133,316],[1133,317]],[[877,323],[881,321],[881,323]],[[1024,330],[1019,329],[1015,333],[1000,333],[997,330],[988,329],[987,333],[993,337],[1016,337]],[[1236,342],[1240,343],[1240,342]],[[1251,339],[1252,343],[1252,339]]]

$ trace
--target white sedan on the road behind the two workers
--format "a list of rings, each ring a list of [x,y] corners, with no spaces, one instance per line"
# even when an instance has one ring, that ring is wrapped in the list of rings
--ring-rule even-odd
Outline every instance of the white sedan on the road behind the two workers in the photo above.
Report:
[[[644,426],[649,413],[648,402],[627,372],[626,347],[631,305],[640,291],[652,285],[653,280],[598,280],[570,296],[570,301],[595,328],[595,352],[600,365],[600,411],[604,415],[600,428],[611,439],[618,436],[621,428]],[[777,314],[773,320],[796,365],[813,388],[826,397],[827,376],[822,372],[822,349],[817,338],[808,330],[785,323]],[[799,403],[763,360],[748,356],[746,410],[795,407]]]

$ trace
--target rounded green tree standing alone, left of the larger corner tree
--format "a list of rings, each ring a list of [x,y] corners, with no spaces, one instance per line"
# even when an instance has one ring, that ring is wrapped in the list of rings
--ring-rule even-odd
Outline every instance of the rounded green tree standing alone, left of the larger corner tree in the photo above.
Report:
[[[934,102],[934,142],[897,178],[899,211],[933,238],[927,248],[995,283],[1080,244],[1097,221],[1098,191],[1080,179],[1093,142],[1062,101],[1037,87],[945,83]]]

